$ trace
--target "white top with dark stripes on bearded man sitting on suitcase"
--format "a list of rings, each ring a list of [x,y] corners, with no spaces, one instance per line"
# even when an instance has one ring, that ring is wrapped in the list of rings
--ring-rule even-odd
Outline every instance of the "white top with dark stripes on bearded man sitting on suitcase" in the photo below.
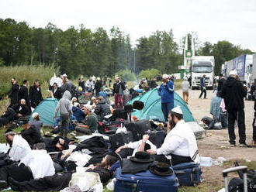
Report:
[[[157,155],[164,155],[171,159],[171,154],[190,156],[195,163],[199,163],[199,152],[194,132],[184,120],[179,121],[174,129],[168,133]]]

